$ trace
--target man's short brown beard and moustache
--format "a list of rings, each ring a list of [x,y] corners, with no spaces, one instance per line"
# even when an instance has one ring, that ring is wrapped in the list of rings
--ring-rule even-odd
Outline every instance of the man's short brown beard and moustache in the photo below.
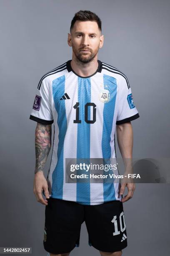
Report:
[[[85,48],[83,48],[85,49]],[[85,50],[90,50],[90,51],[87,51],[86,52],[82,52],[81,50],[83,49],[80,49],[80,50],[77,50],[74,46],[74,44],[72,44],[72,51],[74,52],[75,56],[76,56],[76,59],[82,63],[89,63],[90,61],[92,61],[95,56],[97,55],[97,52],[99,50],[99,46],[97,48],[96,51],[92,51],[90,49],[85,49]]]

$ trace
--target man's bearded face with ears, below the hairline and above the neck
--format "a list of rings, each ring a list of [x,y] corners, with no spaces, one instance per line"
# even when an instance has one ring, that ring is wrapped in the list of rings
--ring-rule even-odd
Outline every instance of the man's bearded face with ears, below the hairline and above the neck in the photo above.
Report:
[[[68,34],[68,45],[72,46],[73,56],[82,63],[94,59],[103,45],[103,35],[95,21],[77,20]]]

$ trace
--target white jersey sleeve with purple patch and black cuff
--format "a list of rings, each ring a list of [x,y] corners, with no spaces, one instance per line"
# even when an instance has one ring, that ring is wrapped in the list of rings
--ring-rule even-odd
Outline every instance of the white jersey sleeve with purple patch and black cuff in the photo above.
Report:
[[[38,123],[52,124],[54,120],[51,108],[50,83],[48,80],[43,79],[39,84],[30,119]]]

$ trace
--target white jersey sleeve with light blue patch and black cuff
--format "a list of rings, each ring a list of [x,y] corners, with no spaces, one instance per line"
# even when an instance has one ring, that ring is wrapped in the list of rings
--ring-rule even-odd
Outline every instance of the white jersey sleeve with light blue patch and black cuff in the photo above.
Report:
[[[119,102],[116,124],[120,125],[137,118],[139,118],[139,113],[135,107],[128,79],[121,77],[119,80]]]

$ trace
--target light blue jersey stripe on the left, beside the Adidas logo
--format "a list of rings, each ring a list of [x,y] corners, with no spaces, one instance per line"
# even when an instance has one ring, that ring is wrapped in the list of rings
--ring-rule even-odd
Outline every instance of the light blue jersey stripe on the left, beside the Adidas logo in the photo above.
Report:
[[[65,100],[60,100],[61,95],[65,93],[65,75],[52,82],[52,95],[57,111],[57,125],[59,128],[57,164],[52,173],[52,193],[51,197],[62,199],[63,195],[63,147],[65,133],[67,131],[67,118],[65,113]]]

